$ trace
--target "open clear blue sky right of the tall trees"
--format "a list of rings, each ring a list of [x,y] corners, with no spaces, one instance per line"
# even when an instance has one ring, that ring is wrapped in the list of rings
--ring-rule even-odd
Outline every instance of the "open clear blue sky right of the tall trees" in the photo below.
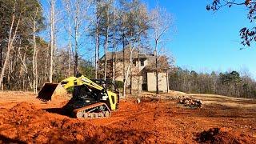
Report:
[[[149,7],[154,0],[145,0]],[[239,30],[251,24],[244,7],[224,8],[217,13],[206,10],[210,0],[159,0],[174,15],[176,34],[170,34],[167,47],[176,65],[199,72],[210,70],[249,70],[256,78],[256,48],[239,50]]]

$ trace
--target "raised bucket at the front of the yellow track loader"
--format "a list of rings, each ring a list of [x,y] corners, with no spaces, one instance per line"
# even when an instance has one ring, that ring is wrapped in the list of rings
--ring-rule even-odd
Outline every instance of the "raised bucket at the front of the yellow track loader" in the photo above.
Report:
[[[60,83],[45,83],[39,91],[37,98],[43,102],[48,102],[66,94],[66,90]]]

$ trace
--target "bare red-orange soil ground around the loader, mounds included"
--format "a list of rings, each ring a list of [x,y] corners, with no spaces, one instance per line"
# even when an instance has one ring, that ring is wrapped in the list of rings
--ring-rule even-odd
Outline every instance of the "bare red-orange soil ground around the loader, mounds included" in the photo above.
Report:
[[[0,91],[0,143],[256,143],[256,101],[171,92],[142,102],[123,99],[105,119],[63,115],[59,102],[30,92]],[[177,105],[178,96],[202,99],[200,109]]]

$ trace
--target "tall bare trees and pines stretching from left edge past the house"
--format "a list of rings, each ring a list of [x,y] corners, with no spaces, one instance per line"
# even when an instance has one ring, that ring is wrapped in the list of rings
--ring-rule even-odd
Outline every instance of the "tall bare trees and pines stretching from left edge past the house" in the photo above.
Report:
[[[0,86],[34,93],[78,73],[114,81],[108,58],[99,59],[113,52],[114,66],[115,52],[125,48],[126,87],[134,51],[155,51],[158,66],[172,24],[163,8],[150,10],[141,0],[0,0],[0,19]]]

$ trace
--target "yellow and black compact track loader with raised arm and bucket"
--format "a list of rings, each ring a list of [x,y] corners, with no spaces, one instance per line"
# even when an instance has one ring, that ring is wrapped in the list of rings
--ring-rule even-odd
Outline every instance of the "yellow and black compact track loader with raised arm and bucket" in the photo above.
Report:
[[[70,77],[60,83],[45,83],[38,99],[48,102],[73,91],[73,96],[63,110],[75,118],[107,118],[112,110],[118,110],[119,91],[110,81],[89,79],[85,76]],[[112,89],[112,90],[111,90]]]

